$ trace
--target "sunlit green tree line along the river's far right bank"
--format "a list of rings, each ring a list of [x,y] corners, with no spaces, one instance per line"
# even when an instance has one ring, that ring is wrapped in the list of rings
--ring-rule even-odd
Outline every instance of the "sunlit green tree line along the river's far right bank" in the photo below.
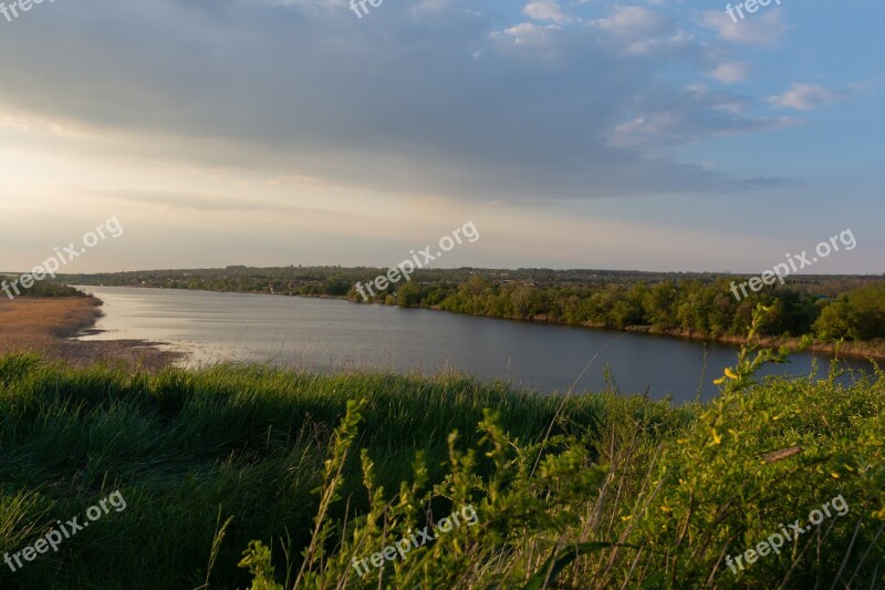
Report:
[[[375,302],[568,325],[694,330],[714,338],[747,333],[753,309],[762,303],[771,308],[760,325],[762,335],[813,334],[850,341],[885,338],[885,281],[854,287],[835,297],[811,289],[771,287],[738,301],[729,291],[731,280],[543,287],[473,276],[458,284],[407,282]],[[351,299],[357,297],[351,293]]]

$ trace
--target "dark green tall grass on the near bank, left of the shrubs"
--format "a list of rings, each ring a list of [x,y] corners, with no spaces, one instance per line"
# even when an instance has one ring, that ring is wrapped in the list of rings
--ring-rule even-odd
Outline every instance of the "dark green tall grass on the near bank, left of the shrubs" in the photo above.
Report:
[[[17,572],[7,588],[196,588],[206,581],[219,518],[232,518],[209,576],[214,587],[249,584],[237,568],[251,539],[310,542],[325,454],[347,401],[365,398],[355,444],[375,458],[378,482],[396,489],[423,451],[428,476],[447,473],[447,436],[478,444],[482,411],[537,438],[558,401],[458,375],[316,375],[221,365],[155,375],[73,370],[29,354],[0,360],[0,553],[14,552],[55,520],[80,515],[119,489],[113,514]],[[614,393],[572,400],[558,432],[602,425],[615,407],[678,420],[664,404]],[[583,426],[582,426],[583,427]],[[333,518],[365,511],[358,457],[343,472]]]

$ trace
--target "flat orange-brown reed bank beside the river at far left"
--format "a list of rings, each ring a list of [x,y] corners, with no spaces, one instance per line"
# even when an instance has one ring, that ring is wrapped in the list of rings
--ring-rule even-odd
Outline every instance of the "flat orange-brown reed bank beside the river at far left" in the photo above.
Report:
[[[180,359],[145,340],[73,340],[101,317],[101,300],[92,297],[0,300],[0,354],[33,351],[75,366],[95,362],[124,363],[157,370]]]

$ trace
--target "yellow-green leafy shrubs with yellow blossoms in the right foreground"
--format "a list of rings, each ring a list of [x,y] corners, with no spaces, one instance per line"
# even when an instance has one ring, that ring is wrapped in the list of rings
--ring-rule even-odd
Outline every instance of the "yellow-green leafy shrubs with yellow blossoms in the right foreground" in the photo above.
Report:
[[[314,561],[314,576],[295,587],[881,584],[885,375],[846,389],[836,384],[834,364],[823,381],[754,383],[759,366],[781,362],[785,353],[758,352],[752,344],[771,312],[754,310],[748,344],[738,365],[726,370],[721,395],[695,406],[696,420],[675,432],[637,421],[633,435],[625,436],[628,422],[611,422],[602,433],[527,444],[508,436],[486,412],[479,448],[458,451],[454,433],[450,473],[420,501],[417,491],[426,479],[420,456],[414,484],[404,482],[399,494],[385,497],[364,451],[372,508],[341,527],[336,552]],[[344,424],[356,422],[358,415],[348,412]],[[331,460],[340,455],[335,445]],[[493,465],[485,477],[475,469],[483,455]],[[846,499],[846,513],[832,515],[814,534],[746,569],[726,566],[784,521],[808,522],[810,510],[836,496]],[[354,573],[364,556],[431,522],[438,499],[447,500],[448,510],[480,506],[482,526],[435,536],[415,553],[392,555],[365,578]],[[421,509],[427,518],[417,521]]]

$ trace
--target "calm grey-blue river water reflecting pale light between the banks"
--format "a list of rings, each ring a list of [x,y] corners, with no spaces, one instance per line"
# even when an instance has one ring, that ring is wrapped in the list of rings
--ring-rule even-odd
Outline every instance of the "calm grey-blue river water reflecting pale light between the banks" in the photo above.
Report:
[[[104,332],[86,339],[146,339],[189,353],[187,363],[240,360],[314,370],[389,369],[433,373],[458,369],[543,392],[565,391],[600,353],[577,390],[604,387],[604,370],[627,393],[648,390],[693,400],[705,345],[647,334],[473,318],[440,311],[339,300],[168,289],[84,287],[104,301]],[[604,350],[603,350],[604,349]],[[602,351],[602,352],[600,352]],[[706,344],[704,396],[735,362],[737,349]],[[806,374],[812,355],[767,373]],[[829,361],[819,358],[825,369]],[[864,361],[852,361],[867,368]]]

